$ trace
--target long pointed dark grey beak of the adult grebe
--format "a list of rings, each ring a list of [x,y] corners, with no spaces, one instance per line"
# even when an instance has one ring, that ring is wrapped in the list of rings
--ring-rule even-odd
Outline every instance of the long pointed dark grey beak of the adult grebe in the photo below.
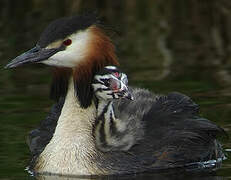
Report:
[[[17,56],[10,63],[8,63],[5,68],[14,68],[24,64],[38,63],[40,61],[46,60],[49,57],[56,54],[58,51],[62,50],[62,46],[59,48],[45,49],[36,45],[34,48],[29,51]]]

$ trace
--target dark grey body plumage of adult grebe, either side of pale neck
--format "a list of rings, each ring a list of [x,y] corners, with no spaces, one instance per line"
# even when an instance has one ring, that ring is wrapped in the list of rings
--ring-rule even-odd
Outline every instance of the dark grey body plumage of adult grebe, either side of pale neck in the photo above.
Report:
[[[136,88],[131,91],[135,101],[122,99],[114,106],[117,117],[127,121],[127,128],[134,130],[131,132],[136,141],[127,151],[96,151],[100,154],[96,158],[100,169],[109,174],[177,167],[200,170],[202,162],[224,158],[216,140],[224,130],[201,118],[198,105],[189,97],[180,93],[154,95]],[[31,167],[54,133],[62,104],[63,99],[60,99],[41,126],[30,133]],[[46,124],[52,127],[46,128]]]

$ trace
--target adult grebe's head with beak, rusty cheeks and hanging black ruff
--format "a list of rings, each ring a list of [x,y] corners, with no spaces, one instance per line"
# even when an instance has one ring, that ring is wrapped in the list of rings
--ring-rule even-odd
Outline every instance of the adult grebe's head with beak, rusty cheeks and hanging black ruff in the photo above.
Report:
[[[54,66],[51,98],[65,97],[72,76],[80,106],[92,104],[94,74],[119,65],[115,48],[95,15],[65,17],[51,22],[36,46],[13,59],[5,68],[43,63]]]

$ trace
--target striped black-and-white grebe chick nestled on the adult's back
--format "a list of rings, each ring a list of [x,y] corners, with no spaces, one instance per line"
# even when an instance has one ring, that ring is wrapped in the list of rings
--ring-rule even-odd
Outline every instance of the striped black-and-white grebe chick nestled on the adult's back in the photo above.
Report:
[[[114,107],[114,101],[118,99],[133,99],[127,85],[127,75],[115,66],[106,66],[94,76],[92,87],[97,118],[93,135],[96,147],[101,151],[128,150],[132,145],[126,133],[126,122],[117,118]]]

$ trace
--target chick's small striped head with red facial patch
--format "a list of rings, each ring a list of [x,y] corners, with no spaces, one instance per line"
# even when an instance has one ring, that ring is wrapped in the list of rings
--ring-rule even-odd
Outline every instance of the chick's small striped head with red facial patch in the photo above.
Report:
[[[94,76],[92,87],[98,99],[110,101],[113,99],[127,98],[133,100],[128,89],[128,79],[115,66],[106,66]]]

